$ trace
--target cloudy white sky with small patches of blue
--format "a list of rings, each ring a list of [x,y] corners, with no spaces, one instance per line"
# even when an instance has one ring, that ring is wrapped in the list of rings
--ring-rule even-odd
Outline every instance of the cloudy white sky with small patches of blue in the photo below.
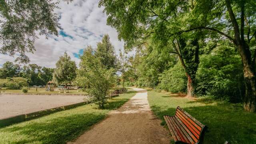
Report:
[[[107,16],[103,8],[98,7],[98,0],[74,0],[67,4],[60,2],[60,9],[55,12],[60,16],[59,23],[63,30],[59,30],[59,36],[39,36],[35,41],[36,51],[28,54],[30,63],[39,66],[54,68],[59,57],[66,51],[71,59],[78,65],[79,55],[87,45],[96,48],[104,34],[110,36],[116,53],[123,48],[124,42],[119,41],[114,28],[106,25]],[[0,54],[0,66],[6,61],[14,61],[15,57]]]

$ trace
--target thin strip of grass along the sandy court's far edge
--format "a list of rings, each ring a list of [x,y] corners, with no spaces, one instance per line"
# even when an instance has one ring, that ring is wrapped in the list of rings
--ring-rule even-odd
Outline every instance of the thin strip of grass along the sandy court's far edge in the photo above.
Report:
[[[1,93],[23,93],[22,90],[1,90]],[[66,90],[67,92],[67,90]],[[38,88],[36,92],[36,88],[30,88],[28,90],[28,94],[58,94],[59,90],[56,91],[46,91],[45,88]],[[86,92],[83,92],[82,90],[68,90],[68,93],[61,93],[61,94],[86,94]]]

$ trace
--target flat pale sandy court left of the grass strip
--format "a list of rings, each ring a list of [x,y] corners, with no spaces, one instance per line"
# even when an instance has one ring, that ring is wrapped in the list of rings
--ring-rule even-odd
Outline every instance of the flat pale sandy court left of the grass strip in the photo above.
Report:
[[[84,96],[0,95],[0,119],[83,102]]]

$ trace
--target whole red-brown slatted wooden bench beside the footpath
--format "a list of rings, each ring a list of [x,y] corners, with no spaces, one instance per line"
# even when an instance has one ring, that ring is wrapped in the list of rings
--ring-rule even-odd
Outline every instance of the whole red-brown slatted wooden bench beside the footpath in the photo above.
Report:
[[[207,127],[179,106],[174,116],[164,115],[164,120],[176,144],[202,144]]]

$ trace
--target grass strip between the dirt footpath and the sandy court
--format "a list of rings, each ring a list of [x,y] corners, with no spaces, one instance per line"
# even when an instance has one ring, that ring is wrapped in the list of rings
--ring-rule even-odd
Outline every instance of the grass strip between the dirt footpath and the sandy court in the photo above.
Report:
[[[65,144],[106,118],[108,112],[122,106],[135,93],[130,91],[112,98],[103,110],[87,104],[0,128],[0,144]]]

